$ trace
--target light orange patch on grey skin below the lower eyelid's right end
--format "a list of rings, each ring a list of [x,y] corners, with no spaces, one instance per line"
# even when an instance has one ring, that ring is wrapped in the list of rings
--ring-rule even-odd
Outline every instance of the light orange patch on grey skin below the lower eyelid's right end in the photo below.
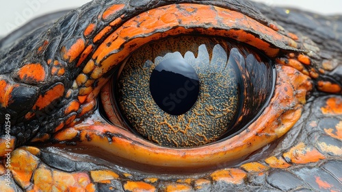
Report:
[[[295,147],[292,147],[289,152],[284,153],[282,156],[289,158],[292,163],[297,164],[313,163],[326,158],[317,149],[308,147],[304,143],[295,145]]]

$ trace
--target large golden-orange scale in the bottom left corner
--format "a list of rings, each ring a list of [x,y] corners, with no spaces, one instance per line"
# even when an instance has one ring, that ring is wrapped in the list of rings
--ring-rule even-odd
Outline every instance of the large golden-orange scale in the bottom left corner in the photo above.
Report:
[[[23,189],[31,184],[32,173],[36,170],[39,159],[23,149],[16,149],[12,152],[11,171],[16,183]]]

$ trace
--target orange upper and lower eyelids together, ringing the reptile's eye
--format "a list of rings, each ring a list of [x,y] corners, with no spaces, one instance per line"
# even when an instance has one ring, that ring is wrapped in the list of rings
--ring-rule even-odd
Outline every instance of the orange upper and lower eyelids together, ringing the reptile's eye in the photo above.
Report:
[[[296,45],[290,38],[239,12],[211,5],[167,5],[136,16],[109,35],[90,60],[90,64],[96,66],[90,77],[93,80],[102,77],[132,51],[151,40],[194,32],[234,38],[259,47],[272,57],[280,49],[298,51],[293,48]],[[99,147],[122,158],[161,167],[225,163],[278,139],[300,118],[306,93],[312,88],[310,78],[286,66],[277,66],[277,74],[275,93],[269,106],[246,130],[231,139],[196,148],[167,148],[144,141],[122,128],[96,121],[63,130],[55,135],[55,139],[68,140],[70,137],[66,132],[73,130],[71,132],[79,136],[79,145]],[[92,97],[95,96],[94,93]],[[86,122],[89,121],[92,119]]]

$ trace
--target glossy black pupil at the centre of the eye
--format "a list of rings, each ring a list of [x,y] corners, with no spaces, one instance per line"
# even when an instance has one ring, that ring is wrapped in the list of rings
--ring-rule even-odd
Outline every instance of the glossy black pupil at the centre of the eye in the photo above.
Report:
[[[150,75],[150,93],[163,111],[182,115],[197,101],[200,82],[194,68],[185,60],[163,60]]]

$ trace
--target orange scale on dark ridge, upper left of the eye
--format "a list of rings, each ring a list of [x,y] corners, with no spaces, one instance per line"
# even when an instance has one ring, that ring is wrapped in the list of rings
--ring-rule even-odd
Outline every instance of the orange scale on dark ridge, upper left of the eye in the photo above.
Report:
[[[79,38],[70,47],[62,47],[62,58],[68,62],[73,62],[77,57],[81,56],[81,53],[86,48],[86,42]]]

